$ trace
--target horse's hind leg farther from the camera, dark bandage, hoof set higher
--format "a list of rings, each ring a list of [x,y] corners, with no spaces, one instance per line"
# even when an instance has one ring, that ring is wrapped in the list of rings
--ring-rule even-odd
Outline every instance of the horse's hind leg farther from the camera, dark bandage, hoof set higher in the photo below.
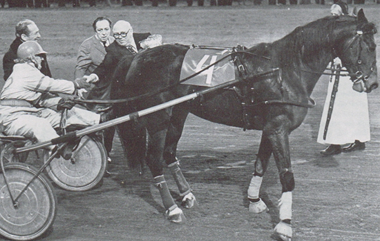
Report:
[[[180,197],[182,198],[182,206],[190,209],[196,202],[196,197],[191,193],[191,187],[184,178],[180,169],[179,161],[176,158],[177,145],[182,135],[184,122],[186,121],[189,112],[178,105],[173,107],[172,116],[165,140],[164,159],[173,175],[175,182],[177,183],[180,191]]]

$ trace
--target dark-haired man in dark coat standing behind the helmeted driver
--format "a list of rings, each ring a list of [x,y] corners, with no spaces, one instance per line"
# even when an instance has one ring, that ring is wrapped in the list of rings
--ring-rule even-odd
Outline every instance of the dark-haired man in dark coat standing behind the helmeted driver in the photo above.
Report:
[[[25,19],[17,23],[16,39],[11,43],[8,52],[6,52],[3,57],[4,81],[6,81],[10,74],[12,74],[15,59],[17,59],[17,49],[19,48],[19,45],[25,41],[38,41],[39,38],[41,38],[41,35],[39,34],[39,28],[35,22]],[[43,58],[44,60],[41,63],[41,73],[51,77],[46,54],[44,54]]]

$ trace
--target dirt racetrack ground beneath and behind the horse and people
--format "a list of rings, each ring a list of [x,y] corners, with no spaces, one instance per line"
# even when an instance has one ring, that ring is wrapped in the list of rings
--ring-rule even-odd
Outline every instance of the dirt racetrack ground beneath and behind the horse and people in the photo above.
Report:
[[[249,47],[279,39],[298,25],[324,17],[330,8],[313,4],[288,10],[289,6],[235,4],[224,8],[187,8],[180,3],[176,8],[0,10],[0,56],[13,39],[15,24],[24,18],[39,26],[40,43],[49,52],[53,75],[71,79],[77,48],[91,36],[91,23],[101,15],[114,22],[131,21],[135,32],[162,34],[166,43],[227,47],[240,43]],[[371,2],[363,7],[368,19],[379,25],[380,6]],[[375,38],[379,45],[379,34]],[[379,51],[377,48],[378,56]],[[368,94],[372,140],[366,149],[327,158],[319,154],[323,145],[316,143],[326,90],[327,78],[321,78],[312,94],[316,107],[290,136],[296,180],[293,240],[380,240],[380,90]],[[178,225],[164,218],[149,169],[142,176],[129,170],[115,138],[111,178],[104,178],[102,187],[92,191],[70,192],[55,187],[58,211],[54,229],[40,240],[276,240],[272,231],[278,222],[281,184],[273,158],[260,193],[269,212],[253,215],[247,209],[247,187],[259,142],[260,132],[243,132],[189,116],[178,158],[198,204],[184,209],[187,223]],[[178,198],[169,172],[166,177],[173,197]]]

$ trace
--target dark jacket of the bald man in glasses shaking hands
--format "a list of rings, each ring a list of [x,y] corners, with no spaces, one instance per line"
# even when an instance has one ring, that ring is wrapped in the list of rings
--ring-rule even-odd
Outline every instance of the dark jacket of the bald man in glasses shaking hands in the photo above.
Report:
[[[142,34],[133,33],[133,39],[135,39],[137,51],[142,49],[139,42],[146,39],[150,35],[151,34],[149,32]],[[106,52],[107,54],[104,57],[103,62],[93,71],[93,73],[99,77],[99,81],[95,83],[95,87],[93,87],[91,92],[88,94],[88,99],[110,99],[110,81],[117,64],[126,56],[131,56],[131,59],[133,59],[133,53],[130,52],[125,46],[119,45],[116,40],[106,48]]]

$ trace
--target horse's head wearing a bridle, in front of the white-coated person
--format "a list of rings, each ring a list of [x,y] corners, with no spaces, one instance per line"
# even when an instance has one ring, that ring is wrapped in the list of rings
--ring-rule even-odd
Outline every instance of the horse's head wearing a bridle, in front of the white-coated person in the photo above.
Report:
[[[343,39],[334,46],[334,50],[351,76],[352,88],[357,92],[369,93],[379,86],[374,42],[377,29],[374,23],[368,23],[362,9],[357,14],[356,23],[354,32],[341,33]]]

